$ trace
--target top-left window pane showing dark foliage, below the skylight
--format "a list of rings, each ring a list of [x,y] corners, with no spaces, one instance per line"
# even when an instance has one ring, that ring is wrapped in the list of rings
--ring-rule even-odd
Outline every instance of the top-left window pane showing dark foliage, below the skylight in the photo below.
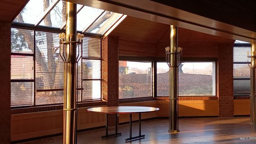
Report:
[[[34,33],[27,29],[11,29],[11,52],[29,53],[34,52]]]

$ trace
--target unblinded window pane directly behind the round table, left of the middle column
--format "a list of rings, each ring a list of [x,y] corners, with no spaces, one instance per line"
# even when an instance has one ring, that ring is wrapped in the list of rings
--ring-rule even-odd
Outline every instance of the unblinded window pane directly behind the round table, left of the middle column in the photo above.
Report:
[[[119,61],[119,98],[151,96],[151,62]]]

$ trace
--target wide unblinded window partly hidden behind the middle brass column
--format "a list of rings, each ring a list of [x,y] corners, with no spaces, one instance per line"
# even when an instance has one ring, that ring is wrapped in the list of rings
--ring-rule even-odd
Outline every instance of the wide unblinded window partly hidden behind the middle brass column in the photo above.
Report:
[[[216,95],[215,62],[183,62],[179,66],[180,96]],[[169,96],[169,66],[157,63],[157,96]]]

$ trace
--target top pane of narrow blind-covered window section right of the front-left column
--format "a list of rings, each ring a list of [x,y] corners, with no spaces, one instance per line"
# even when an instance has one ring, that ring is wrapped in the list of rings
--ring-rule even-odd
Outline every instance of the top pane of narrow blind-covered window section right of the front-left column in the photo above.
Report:
[[[84,37],[83,39],[83,57],[101,58],[101,40],[95,37]]]

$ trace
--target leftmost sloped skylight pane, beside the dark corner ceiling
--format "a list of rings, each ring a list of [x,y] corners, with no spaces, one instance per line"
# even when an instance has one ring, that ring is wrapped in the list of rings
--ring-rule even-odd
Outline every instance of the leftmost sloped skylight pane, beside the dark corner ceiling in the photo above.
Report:
[[[44,0],[29,0],[24,9],[15,18],[15,22],[35,24],[39,17],[44,14],[44,9],[51,6],[55,0],[49,0],[49,3],[44,3]]]

